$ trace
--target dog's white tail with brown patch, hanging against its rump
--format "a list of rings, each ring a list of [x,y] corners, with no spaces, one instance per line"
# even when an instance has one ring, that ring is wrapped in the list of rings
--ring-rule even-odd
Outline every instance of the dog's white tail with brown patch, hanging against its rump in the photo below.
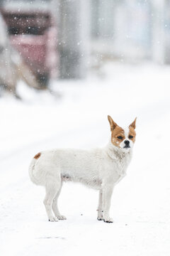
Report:
[[[36,164],[38,163],[38,158],[40,157],[40,153],[38,153],[37,155],[34,156],[33,160],[30,162],[30,166],[29,166],[29,176],[30,176],[30,180],[33,181],[33,183],[35,183],[36,185],[41,185],[41,178],[38,177],[37,175],[37,168],[36,168]]]

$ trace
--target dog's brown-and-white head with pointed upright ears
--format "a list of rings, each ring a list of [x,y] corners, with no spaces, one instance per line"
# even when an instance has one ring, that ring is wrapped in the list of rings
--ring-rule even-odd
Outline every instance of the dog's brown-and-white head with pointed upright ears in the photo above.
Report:
[[[136,137],[136,119],[137,118],[135,118],[129,127],[123,129],[122,127],[119,127],[110,116],[108,116],[108,122],[111,126],[111,142],[114,146],[117,146],[125,152],[132,149]]]

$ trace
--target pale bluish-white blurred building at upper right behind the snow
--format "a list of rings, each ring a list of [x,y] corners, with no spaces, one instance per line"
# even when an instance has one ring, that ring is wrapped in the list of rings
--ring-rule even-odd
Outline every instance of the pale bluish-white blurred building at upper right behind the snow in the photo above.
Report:
[[[170,64],[169,0],[91,0],[94,53]]]

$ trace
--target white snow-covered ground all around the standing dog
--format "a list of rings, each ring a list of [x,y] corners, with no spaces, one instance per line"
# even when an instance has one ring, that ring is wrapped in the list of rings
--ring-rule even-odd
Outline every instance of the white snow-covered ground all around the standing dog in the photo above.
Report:
[[[23,101],[0,98],[0,254],[169,256],[170,68],[108,63],[100,76],[52,90],[62,97],[20,84]],[[98,191],[73,183],[60,196],[67,220],[49,223],[30,160],[44,149],[105,145],[108,114],[122,126],[137,116],[134,156],[113,192],[114,223],[96,220]]]

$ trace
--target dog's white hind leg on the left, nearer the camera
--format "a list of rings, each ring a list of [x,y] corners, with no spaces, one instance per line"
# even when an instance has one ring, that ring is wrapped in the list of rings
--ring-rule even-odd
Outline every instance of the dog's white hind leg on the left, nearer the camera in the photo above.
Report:
[[[60,191],[60,181],[48,181],[45,186],[46,195],[44,200],[45,210],[47,212],[47,217],[49,221],[58,221],[57,218],[52,214],[52,202]]]

